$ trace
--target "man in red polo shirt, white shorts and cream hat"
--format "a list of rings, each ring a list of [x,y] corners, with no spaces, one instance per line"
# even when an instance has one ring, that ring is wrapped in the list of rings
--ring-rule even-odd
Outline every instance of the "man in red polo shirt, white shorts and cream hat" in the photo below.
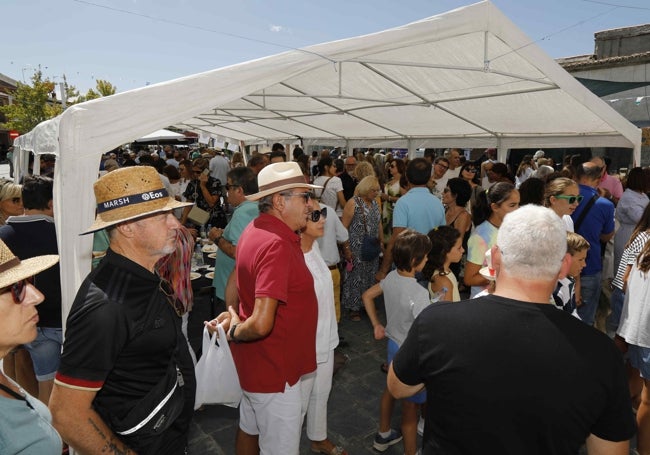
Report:
[[[311,189],[295,162],[273,163],[258,175],[260,215],[237,244],[239,313],[224,324],[244,396],[237,453],[297,455],[302,416],[316,370],[318,304],[300,237]],[[212,321],[214,325],[216,321]]]

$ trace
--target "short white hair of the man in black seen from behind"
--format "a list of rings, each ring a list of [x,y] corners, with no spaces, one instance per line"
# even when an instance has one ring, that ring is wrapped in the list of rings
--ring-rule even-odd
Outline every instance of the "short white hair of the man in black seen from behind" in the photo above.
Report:
[[[505,216],[497,245],[509,275],[555,280],[567,251],[566,227],[553,210],[526,205]]]

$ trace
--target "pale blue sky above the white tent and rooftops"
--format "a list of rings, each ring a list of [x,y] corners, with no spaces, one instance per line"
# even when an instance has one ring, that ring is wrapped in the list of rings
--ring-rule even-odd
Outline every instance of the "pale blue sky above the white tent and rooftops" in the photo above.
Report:
[[[0,73],[41,66],[84,93],[119,92],[474,3],[463,0],[0,0]],[[551,57],[593,53],[597,31],[650,23],[647,0],[494,0]]]

